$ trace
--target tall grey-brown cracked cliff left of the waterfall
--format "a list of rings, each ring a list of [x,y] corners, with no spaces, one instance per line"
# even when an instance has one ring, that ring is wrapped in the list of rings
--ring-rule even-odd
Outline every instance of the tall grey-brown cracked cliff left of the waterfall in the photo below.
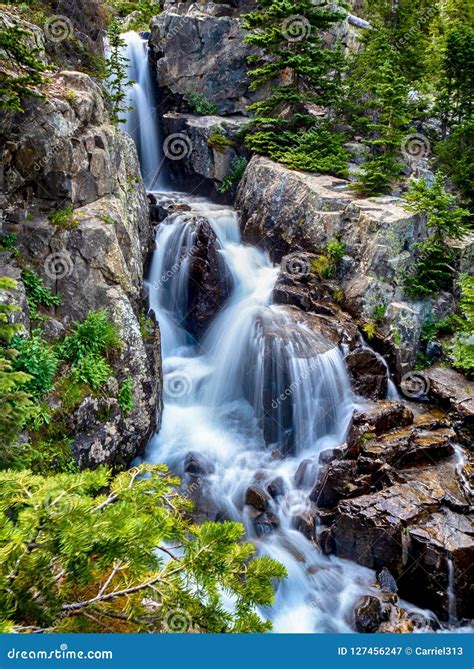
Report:
[[[105,309],[123,342],[104,396],[86,397],[68,417],[72,453],[81,467],[127,465],[161,411],[159,331],[139,324],[153,230],[135,147],[109,125],[97,85],[82,73],[55,75],[45,100],[30,99],[25,114],[4,121],[4,231],[16,235],[23,267],[61,299],[45,336]],[[61,224],[51,222],[53,210],[65,214]],[[28,330],[27,311],[23,319]],[[127,378],[133,409],[125,414],[117,394]]]

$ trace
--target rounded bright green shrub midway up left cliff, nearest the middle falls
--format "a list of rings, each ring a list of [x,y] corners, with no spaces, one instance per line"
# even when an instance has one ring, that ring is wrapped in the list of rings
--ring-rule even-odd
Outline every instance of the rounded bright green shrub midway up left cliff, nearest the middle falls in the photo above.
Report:
[[[74,325],[74,332],[65,338],[61,346],[63,357],[71,363],[77,363],[87,355],[106,355],[121,348],[117,328],[106,311],[90,311],[82,323]]]

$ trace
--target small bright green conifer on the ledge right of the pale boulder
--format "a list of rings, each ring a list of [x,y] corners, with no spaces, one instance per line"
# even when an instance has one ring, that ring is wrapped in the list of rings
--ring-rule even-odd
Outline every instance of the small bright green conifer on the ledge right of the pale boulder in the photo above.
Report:
[[[410,297],[419,297],[449,290],[455,254],[446,238],[462,239],[469,232],[469,212],[457,206],[453,195],[446,192],[441,173],[436,175],[432,186],[423,179],[414,181],[406,199],[411,211],[426,218],[431,236],[416,245],[417,260],[412,271],[404,276],[405,292]]]

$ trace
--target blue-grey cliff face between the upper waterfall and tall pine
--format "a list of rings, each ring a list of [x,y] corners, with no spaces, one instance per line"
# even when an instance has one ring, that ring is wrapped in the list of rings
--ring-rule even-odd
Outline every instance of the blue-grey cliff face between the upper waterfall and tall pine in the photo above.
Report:
[[[220,114],[246,114],[256,94],[249,90],[251,50],[241,19],[214,3],[181,5],[177,11],[168,7],[152,19],[150,36],[157,81],[168,97],[164,111],[193,92],[216,103]]]

